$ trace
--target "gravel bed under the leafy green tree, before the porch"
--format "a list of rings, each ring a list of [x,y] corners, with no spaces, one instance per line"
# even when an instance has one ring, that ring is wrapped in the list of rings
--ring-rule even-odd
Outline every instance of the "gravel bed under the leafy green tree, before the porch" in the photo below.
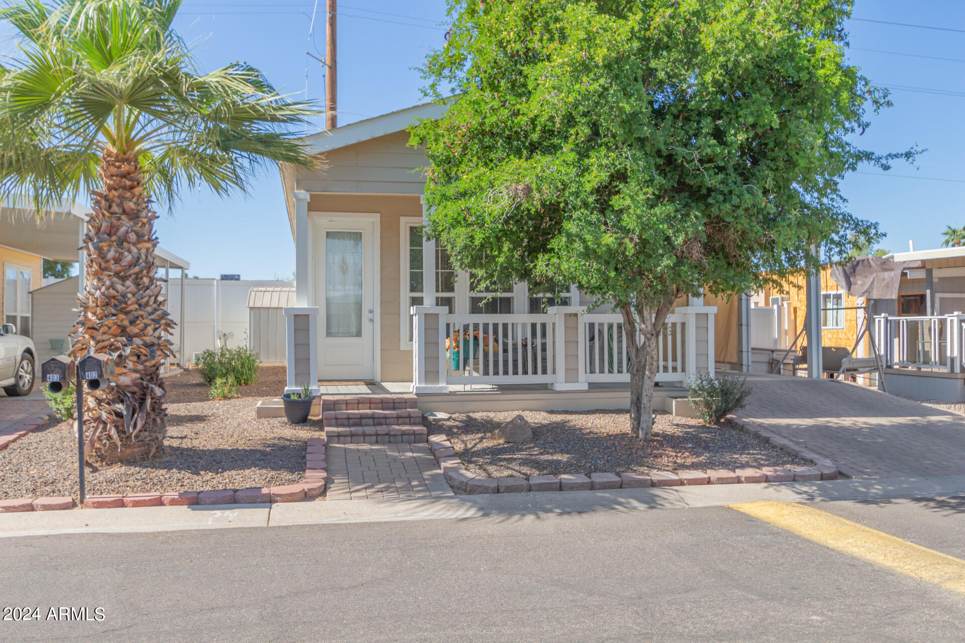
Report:
[[[492,440],[492,432],[515,415],[453,415],[434,422],[429,433],[445,433],[466,469],[487,477],[812,464],[730,424],[705,426],[667,414],[657,415],[647,444],[631,438],[625,411],[524,411],[520,415],[533,425],[533,442]]]

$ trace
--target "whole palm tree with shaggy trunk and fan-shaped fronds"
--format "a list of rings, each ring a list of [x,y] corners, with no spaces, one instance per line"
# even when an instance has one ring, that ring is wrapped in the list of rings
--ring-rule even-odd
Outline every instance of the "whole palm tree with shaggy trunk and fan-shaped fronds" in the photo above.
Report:
[[[75,357],[117,356],[117,386],[84,400],[90,457],[151,458],[165,435],[159,368],[175,326],[155,278],[154,199],[225,196],[274,163],[312,165],[297,129],[317,115],[253,67],[200,72],[172,29],[180,0],[19,0],[0,67],[0,197],[38,212],[93,199]]]

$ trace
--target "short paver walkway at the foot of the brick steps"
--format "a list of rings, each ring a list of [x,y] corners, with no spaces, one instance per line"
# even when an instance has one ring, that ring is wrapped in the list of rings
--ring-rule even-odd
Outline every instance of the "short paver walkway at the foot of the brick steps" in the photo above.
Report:
[[[328,499],[453,496],[426,443],[329,444]]]

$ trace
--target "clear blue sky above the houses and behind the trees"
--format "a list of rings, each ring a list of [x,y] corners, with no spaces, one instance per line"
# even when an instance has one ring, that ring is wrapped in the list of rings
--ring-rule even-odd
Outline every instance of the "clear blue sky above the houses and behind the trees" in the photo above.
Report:
[[[318,4],[323,10],[324,0]],[[443,40],[445,29],[437,23],[445,15],[444,1],[347,0],[339,5],[339,124],[420,102],[421,82],[412,67],[421,66],[427,51]],[[313,6],[313,0],[185,0],[177,27],[186,40],[196,42],[204,68],[245,61],[290,93],[304,92],[307,68],[309,96],[317,99],[322,73],[305,51],[324,51],[325,30],[318,17],[315,38],[309,42]],[[882,248],[904,251],[909,239],[919,250],[937,247],[942,229],[965,224],[965,62],[936,60],[965,61],[965,3],[858,0],[854,17],[862,20],[848,25],[851,61],[878,85],[916,88],[894,89],[895,106],[872,116],[859,142],[882,152],[916,144],[928,151],[915,166],[896,165],[890,175],[872,168],[862,169],[871,174],[849,175],[844,195],[852,213],[877,221],[887,233]],[[191,262],[192,275],[239,273],[242,279],[273,279],[290,278],[294,270],[275,171],[265,173],[247,198],[185,195],[174,216],[162,216],[157,228],[161,245]]]

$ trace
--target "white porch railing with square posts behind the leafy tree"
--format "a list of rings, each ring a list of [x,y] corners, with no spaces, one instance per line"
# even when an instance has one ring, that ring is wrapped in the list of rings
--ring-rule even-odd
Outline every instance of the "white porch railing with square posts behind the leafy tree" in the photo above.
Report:
[[[627,337],[619,314],[555,307],[546,314],[449,314],[417,306],[413,313],[413,391],[450,385],[546,384],[587,388],[630,381]],[[658,382],[686,382],[714,372],[714,307],[677,308],[660,333]]]

